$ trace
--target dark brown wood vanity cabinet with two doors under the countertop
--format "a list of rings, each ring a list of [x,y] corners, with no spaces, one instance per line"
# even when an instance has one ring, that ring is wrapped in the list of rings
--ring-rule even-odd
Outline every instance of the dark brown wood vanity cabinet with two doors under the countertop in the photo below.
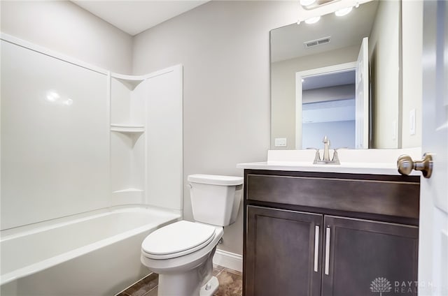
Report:
[[[416,295],[395,289],[417,280],[419,188],[416,176],[244,170],[244,295]]]

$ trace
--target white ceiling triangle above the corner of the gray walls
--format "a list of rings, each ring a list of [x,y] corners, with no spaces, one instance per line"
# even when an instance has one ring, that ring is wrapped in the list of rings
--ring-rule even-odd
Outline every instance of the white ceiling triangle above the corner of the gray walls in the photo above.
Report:
[[[144,1],[113,1],[113,0],[72,0],[76,5],[102,18],[109,24],[125,31],[131,36],[161,22],[181,15],[188,10],[200,6],[207,1],[194,0],[144,0]]]

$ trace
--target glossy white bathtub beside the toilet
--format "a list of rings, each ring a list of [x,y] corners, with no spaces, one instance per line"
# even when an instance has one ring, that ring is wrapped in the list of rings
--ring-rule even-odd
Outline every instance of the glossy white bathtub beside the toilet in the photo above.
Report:
[[[115,295],[149,273],[141,242],[181,215],[120,207],[3,230],[0,295]]]

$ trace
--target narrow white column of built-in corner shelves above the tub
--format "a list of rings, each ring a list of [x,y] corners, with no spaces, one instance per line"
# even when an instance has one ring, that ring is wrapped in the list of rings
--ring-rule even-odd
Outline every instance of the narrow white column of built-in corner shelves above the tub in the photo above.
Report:
[[[112,205],[142,204],[144,200],[145,126],[144,77],[112,73],[111,191]]]

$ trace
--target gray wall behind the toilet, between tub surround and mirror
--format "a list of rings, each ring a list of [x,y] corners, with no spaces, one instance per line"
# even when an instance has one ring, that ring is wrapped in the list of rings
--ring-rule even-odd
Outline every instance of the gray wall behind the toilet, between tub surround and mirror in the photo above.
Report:
[[[211,1],[134,38],[134,74],[183,64],[187,175],[243,175],[269,149],[269,30],[297,21],[297,2]],[[192,220],[184,190],[184,218]],[[220,249],[242,253],[242,209]]]

